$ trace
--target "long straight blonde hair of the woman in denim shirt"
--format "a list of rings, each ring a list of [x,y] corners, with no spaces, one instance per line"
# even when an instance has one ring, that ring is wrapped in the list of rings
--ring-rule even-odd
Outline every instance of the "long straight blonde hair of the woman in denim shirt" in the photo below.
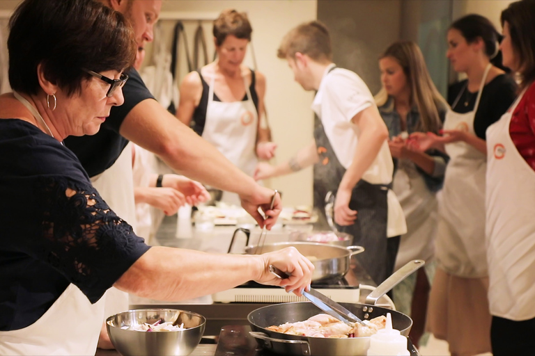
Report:
[[[444,107],[447,107],[448,104],[431,80],[424,56],[418,45],[412,41],[394,42],[380,56],[380,59],[386,57],[394,58],[407,76],[410,86],[410,104],[416,104],[420,114],[417,131],[437,133],[442,127],[437,106],[444,104]],[[388,94],[385,88],[382,88],[375,95],[375,102],[377,106],[382,106],[387,100]]]

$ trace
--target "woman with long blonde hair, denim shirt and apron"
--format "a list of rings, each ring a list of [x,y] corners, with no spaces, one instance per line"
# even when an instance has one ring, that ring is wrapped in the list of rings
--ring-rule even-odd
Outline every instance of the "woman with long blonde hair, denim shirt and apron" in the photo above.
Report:
[[[408,229],[401,236],[395,267],[398,269],[412,259],[433,259],[438,209],[435,193],[442,187],[447,156],[436,150],[412,149],[408,136],[417,131],[437,133],[447,103],[431,81],[424,56],[414,42],[391,44],[380,57],[379,67],[382,89],[375,101],[388,127],[395,165],[393,190]],[[396,306],[414,320],[411,339],[416,344],[424,333],[433,272],[434,264],[428,263],[425,270],[419,270],[394,289]]]

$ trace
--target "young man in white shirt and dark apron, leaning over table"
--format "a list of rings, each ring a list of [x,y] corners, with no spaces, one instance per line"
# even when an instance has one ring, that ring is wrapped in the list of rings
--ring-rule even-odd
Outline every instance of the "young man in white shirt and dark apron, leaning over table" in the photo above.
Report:
[[[285,175],[318,163],[316,189],[336,193],[334,221],[366,251],[357,256],[376,283],[394,270],[405,217],[391,191],[394,164],[388,130],[371,92],[357,74],[336,68],[327,28],[313,21],[297,26],[279,47],[295,81],[317,90],[311,108],[320,118],[314,141],[292,159],[272,166],[260,163],[256,179]],[[318,184],[318,182],[320,182]]]

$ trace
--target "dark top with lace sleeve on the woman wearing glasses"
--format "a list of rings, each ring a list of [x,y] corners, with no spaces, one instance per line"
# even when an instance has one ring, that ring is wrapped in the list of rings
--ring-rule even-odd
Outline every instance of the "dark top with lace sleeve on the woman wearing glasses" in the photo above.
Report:
[[[75,284],[97,302],[148,250],[109,209],[75,154],[0,120],[0,331],[34,323]]]

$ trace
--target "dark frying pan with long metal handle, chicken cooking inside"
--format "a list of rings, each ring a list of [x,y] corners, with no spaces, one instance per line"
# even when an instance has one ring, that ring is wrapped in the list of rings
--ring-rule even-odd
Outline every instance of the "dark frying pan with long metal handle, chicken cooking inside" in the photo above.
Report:
[[[400,330],[402,335],[408,337],[410,327],[412,327],[412,319],[401,312],[385,307],[377,307],[375,306],[375,301],[421,266],[424,266],[424,261],[410,261],[372,291],[366,298],[366,304],[340,304],[362,320],[369,320],[382,315],[386,316],[387,313],[390,313],[394,329]],[[303,356],[366,355],[370,343],[369,337],[349,337],[346,339],[302,337],[267,329],[272,325],[304,321],[320,313],[322,313],[321,310],[311,302],[291,302],[258,308],[249,313],[247,321],[249,321],[253,330],[251,335],[256,339],[258,345],[273,353]]]

